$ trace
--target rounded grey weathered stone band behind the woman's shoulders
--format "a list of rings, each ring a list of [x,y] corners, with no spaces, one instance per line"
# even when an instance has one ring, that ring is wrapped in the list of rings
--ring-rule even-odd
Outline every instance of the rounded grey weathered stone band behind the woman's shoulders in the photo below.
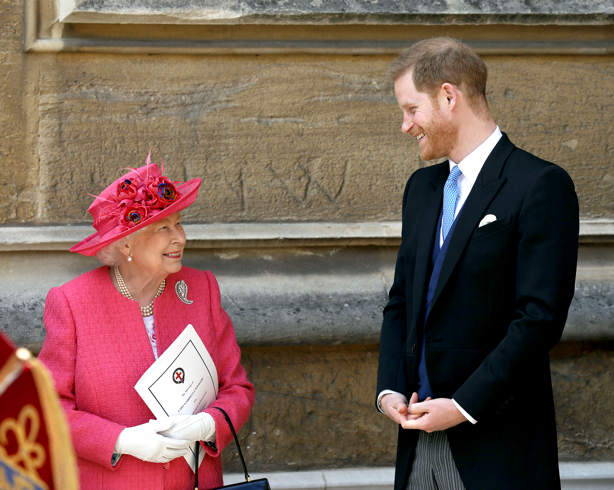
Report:
[[[183,263],[211,270],[241,346],[379,341],[397,247],[188,249]],[[614,339],[614,246],[580,246],[576,292],[562,340]],[[49,289],[98,267],[66,251],[0,253],[0,328],[41,349]],[[599,266],[596,266],[599,265]]]

